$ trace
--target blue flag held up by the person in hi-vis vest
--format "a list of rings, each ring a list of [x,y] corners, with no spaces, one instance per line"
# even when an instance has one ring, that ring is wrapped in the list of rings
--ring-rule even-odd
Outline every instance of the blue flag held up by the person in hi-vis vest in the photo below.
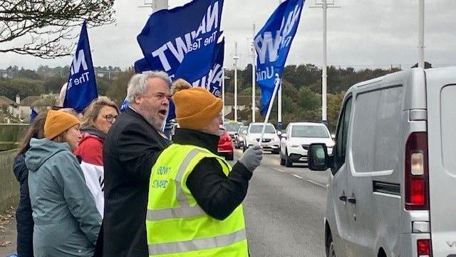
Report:
[[[296,34],[303,7],[304,0],[284,1],[255,36],[257,83],[261,88],[261,114],[266,114],[274,87],[280,84],[286,56]]]

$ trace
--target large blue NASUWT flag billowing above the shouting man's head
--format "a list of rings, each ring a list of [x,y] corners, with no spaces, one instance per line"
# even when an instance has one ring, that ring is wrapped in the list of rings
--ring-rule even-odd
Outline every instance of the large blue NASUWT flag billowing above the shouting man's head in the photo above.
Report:
[[[138,35],[145,59],[136,71],[166,71],[172,78],[196,81],[212,68],[221,34],[223,0],[194,0],[185,6],[157,11]]]

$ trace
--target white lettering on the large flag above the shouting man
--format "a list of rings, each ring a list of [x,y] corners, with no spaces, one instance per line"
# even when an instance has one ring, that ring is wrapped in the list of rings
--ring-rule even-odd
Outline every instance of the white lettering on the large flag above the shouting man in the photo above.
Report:
[[[201,23],[196,31],[191,31],[184,36],[177,37],[174,42],[168,41],[155,51],[152,51],[153,57],[158,57],[165,71],[170,71],[171,66],[168,57],[165,54],[167,50],[171,51],[177,61],[182,64],[185,54],[190,51],[200,49],[202,46],[217,40],[217,29],[219,26],[219,2],[216,1],[212,6],[207,8],[207,14],[202,18]],[[198,38],[199,36],[210,33],[206,39]]]

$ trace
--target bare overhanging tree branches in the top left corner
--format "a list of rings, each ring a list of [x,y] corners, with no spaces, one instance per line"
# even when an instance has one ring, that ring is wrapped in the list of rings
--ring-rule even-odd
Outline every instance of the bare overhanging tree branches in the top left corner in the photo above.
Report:
[[[0,53],[29,54],[43,59],[71,54],[73,29],[88,21],[102,26],[114,21],[113,0],[0,0]],[[29,41],[24,44],[15,40]]]

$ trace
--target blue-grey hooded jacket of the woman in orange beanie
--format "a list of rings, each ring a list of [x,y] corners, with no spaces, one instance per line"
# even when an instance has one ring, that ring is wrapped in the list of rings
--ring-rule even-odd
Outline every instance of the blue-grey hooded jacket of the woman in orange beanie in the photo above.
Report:
[[[68,143],[32,138],[26,153],[33,254],[93,256],[101,216]]]

